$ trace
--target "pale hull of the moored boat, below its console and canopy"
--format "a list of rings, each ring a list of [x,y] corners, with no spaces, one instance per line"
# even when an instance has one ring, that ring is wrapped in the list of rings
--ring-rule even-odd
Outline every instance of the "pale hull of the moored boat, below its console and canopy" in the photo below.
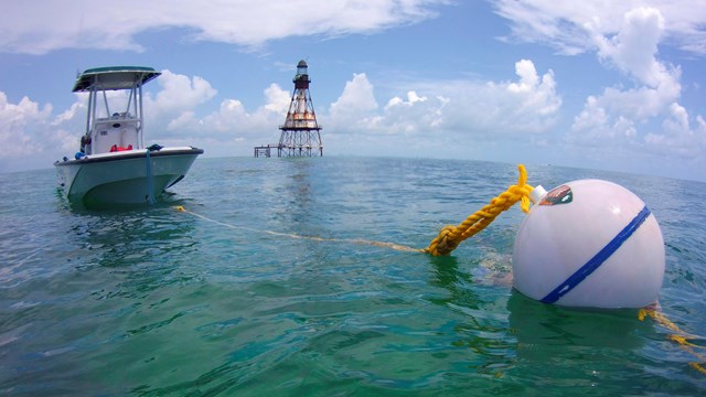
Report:
[[[153,203],[181,181],[202,149],[191,147],[101,153],[54,163],[72,204],[86,206]]]

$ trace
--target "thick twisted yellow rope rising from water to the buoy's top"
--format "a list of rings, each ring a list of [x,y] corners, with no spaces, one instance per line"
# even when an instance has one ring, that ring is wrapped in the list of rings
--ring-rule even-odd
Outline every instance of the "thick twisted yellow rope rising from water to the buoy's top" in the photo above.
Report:
[[[464,239],[475,235],[485,226],[490,225],[501,212],[506,211],[516,202],[521,202],[520,206],[525,213],[530,211],[530,193],[534,190],[527,184],[527,171],[525,167],[517,165],[520,178],[517,184],[507,187],[498,197],[493,198],[490,204],[470,215],[460,225],[448,225],[439,232],[439,235],[431,240],[429,247],[425,248],[425,253],[434,256],[449,255]]]

